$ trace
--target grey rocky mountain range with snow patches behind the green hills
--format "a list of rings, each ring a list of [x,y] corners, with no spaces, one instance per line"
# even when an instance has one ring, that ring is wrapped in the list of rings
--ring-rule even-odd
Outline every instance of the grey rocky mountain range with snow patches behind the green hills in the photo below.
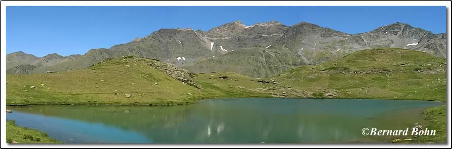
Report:
[[[133,55],[173,63],[193,73],[229,71],[263,78],[376,47],[412,49],[443,58],[447,55],[445,34],[403,23],[347,34],[306,22],[285,26],[270,21],[246,26],[236,21],[207,32],[160,29],[109,49],[91,49],[84,55],[10,53],[6,68],[9,74],[63,71],[87,68],[109,57]]]

